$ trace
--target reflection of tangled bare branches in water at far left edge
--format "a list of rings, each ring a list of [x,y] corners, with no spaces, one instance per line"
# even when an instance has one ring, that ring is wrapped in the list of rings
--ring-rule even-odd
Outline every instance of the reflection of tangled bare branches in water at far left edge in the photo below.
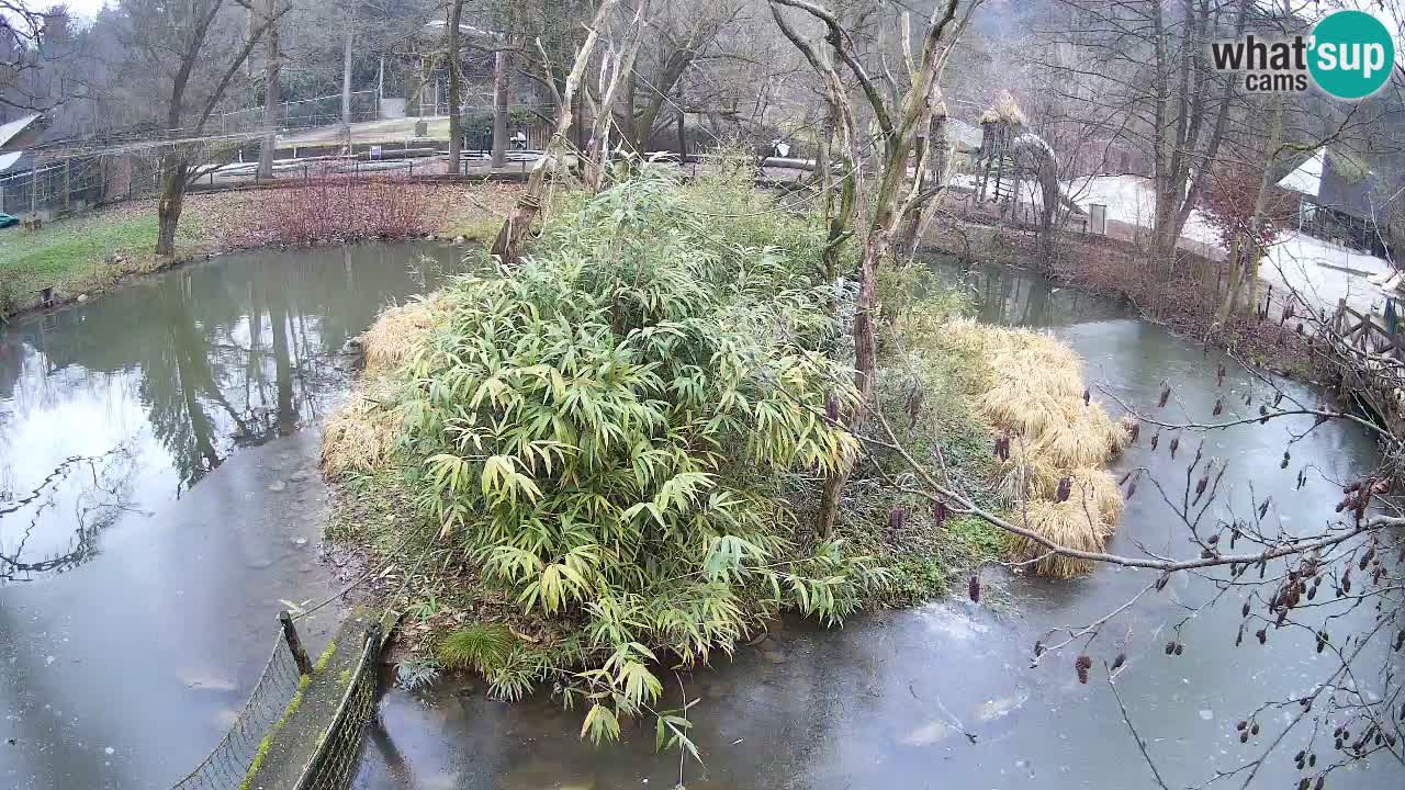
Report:
[[[0,583],[62,574],[90,559],[97,552],[98,533],[131,510],[133,458],[132,450],[119,444],[103,455],[65,458],[24,493],[0,491]],[[30,541],[41,517],[59,516],[66,506],[73,507],[67,543],[58,550],[34,550]]]

